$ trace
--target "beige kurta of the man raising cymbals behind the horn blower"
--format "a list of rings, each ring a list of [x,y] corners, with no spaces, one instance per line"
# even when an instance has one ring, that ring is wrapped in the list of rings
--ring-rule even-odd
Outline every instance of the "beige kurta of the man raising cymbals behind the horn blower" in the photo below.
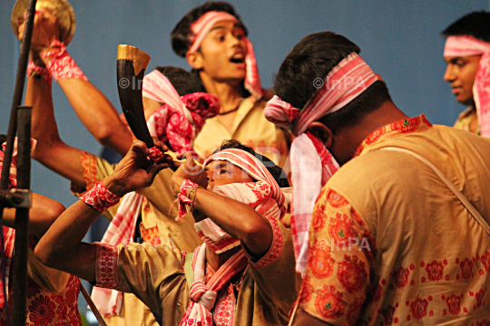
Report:
[[[82,166],[88,189],[103,177],[112,174],[114,168],[103,158],[88,153],[82,155]],[[141,242],[171,245],[181,251],[192,251],[197,245],[201,245],[201,239],[194,230],[192,216],[179,222],[175,221],[177,205],[171,209],[171,204],[175,200],[171,190],[171,174],[170,169],[163,170],[155,177],[152,187],[141,191],[145,197],[142,203],[142,223],[140,224]],[[119,205],[111,207],[104,213],[104,216],[112,219],[118,207]],[[152,312],[132,293],[123,293],[122,300],[120,315],[105,318],[108,325],[156,325]]]

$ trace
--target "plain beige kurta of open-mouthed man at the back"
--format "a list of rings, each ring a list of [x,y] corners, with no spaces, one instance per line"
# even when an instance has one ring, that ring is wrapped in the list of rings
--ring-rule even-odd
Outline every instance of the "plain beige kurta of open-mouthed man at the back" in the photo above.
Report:
[[[194,149],[203,157],[209,157],[223,140],[235,139],[250,146],[256,152],[270,158],[279,167],[284,167],[289,153],[289,143],[284,132],[264,117],[267,101],[255,102],[253,97],[243,100],[231,130],[215,117],[206,120],[194,141]]]

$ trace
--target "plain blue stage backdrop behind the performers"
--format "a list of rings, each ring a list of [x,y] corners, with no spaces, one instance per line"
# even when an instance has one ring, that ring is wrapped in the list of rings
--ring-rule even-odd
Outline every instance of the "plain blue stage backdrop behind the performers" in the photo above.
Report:
[[[311,33],[330,30],[344,34],[361,47],[362,57],[387,82],[395,103],[410,116],[422,112],[429,120],[451,125],[459,111],[443,81],[444,39],[440,32],[459,16],[488,10],[488,0],[329,0],[230,1],[240,13],[255,46],[260,75],[271,87],[274,73],[294,44]],[[116,88],[116,48],[132,44],[152,56],[155,65],[187,62],[171,51],[172,27],[202,1],[72,0],[76,33],[68,51],[83,72],[121,111]],[[0,133],[6,133],[19,54],[10,26],[14,0],[0,1]],[[76,118],[63,91],[54,83],[54,110],[62,139],[98,154],[101,146]],[[34,191],[65,206],[75,198],[69,183],[34,162]]]

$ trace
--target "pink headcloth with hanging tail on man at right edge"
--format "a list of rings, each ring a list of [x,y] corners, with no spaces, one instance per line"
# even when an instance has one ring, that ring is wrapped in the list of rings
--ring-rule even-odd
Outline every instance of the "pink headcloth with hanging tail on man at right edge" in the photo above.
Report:
[[[480,124],[480,135],[490,138],[490,43],[472,36],[449,36],[445,56],[482,55],[473,84],[473,99]]]

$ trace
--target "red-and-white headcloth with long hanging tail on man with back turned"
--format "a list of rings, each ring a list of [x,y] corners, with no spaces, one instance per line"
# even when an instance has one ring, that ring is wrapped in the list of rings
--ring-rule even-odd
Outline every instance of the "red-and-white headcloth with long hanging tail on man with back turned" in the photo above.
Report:
[[[313,207],[321,187],[339,168],[323,142],[305,131],[311,122],[342,109],[356,99],[377,79],[358,53],[351,53],[328,73],[319,92],[303,110],[282,101],[278,96],[267,103],[264,111],[266,119],[291,129],[296,137],[289,151],[293,186],[291,232],[296,270],[303,275],[308,262]]]

